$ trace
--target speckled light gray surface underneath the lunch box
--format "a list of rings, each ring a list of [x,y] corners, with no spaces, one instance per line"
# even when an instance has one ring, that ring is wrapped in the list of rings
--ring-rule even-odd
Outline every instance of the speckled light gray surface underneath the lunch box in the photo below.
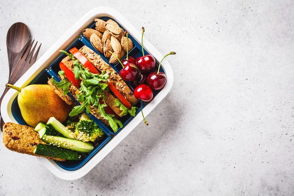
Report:
[[[170,94],[91,172],[74,181],[0,144],[0,196],[294,195],[294,1],[0,2],[5,37],[26,23],[40,55],[87,11],[114,7],[169,57]],[[293,140],[293,141],[292,141]]]

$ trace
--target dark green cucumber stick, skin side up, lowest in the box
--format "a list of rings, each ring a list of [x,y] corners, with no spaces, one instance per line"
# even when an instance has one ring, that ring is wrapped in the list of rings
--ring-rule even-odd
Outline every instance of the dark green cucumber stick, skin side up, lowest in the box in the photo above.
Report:
[[[76,151],[45,144],[38,144],[34,150],[34,154],[66,160],[81,160],[82,157],[82,155]]]

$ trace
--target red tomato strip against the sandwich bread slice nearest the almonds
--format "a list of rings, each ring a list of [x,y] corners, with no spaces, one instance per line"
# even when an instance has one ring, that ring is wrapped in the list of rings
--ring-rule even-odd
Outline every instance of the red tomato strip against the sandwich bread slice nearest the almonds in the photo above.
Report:
[[[70,49],[70,52],[85,68],[88,68],[91,73],[100,73],[96,69],[96,67],[94,67],[94,65],[77,48]],[[107,84],[110,90],[113,92],[113,94],[118,99],[120,99],[123,105],[129,110],[132,109],[132,105],[123,97],[123,95],[117,90],[117,88],[113,85],[113,83],[110,80],[108,80]]]

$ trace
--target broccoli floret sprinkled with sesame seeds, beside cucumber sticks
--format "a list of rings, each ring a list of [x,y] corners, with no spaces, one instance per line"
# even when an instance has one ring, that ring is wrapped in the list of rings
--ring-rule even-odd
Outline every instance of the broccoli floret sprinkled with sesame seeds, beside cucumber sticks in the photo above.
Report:
[[[86,114],[82,115],[74,129],[75,139],[83,142],[94,142],[97,137],[102,137],[103,134],[102,129]]]

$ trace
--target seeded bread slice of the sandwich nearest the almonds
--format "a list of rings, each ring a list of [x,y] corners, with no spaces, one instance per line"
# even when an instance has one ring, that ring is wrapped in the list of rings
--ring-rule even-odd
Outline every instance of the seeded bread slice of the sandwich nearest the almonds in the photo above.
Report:
[[[79,49],[79,51],[82,52],[100,72],[105,71],[108,73],[109,80],[131,105],[134,106],[138,103],[138,99],[135,98],[134,93],[129,89],[121,76],[114,69],[112,69],[112,67],[108,65],[100,55],[86,46],[83,46]]]

